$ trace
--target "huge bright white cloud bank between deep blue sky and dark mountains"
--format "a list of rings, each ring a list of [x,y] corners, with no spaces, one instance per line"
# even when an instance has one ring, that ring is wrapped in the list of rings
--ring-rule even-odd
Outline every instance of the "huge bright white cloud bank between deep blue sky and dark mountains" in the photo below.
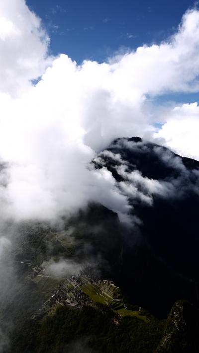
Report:
[[[24,0],[0,1],[1,217],[55,219],[96,201],[125,219],[126,193],[105,167],[89,163],[113,139],[131,136],[199,159],[197,104],[166,105],[158,116],[165,124],[154,132],[151,100],[199,91],[199,11],[187,11],[167,42],[106,63],[53,59],[48,45]]]

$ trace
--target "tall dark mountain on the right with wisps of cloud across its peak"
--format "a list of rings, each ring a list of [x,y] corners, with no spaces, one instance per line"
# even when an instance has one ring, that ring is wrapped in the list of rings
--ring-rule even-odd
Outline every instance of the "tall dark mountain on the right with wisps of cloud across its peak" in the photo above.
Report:
[[[140,138],[117,139],[93,161],[132,206],[118,281],[133,302],[165,316],[199,304],[199,162]]]

